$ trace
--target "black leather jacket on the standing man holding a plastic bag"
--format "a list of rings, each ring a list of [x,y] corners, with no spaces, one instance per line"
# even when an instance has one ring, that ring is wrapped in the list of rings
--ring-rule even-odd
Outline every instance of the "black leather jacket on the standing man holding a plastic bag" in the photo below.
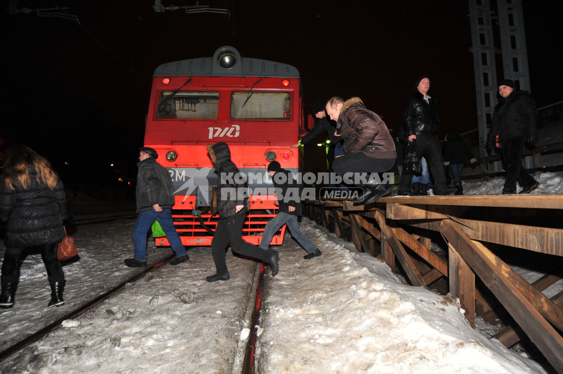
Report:
[[[420,92],[414,92],[405,101],[403,126],[407,136],[435,135],[442,126],[438,115],[438,103],[434,96],[428,96],[428,103]]]

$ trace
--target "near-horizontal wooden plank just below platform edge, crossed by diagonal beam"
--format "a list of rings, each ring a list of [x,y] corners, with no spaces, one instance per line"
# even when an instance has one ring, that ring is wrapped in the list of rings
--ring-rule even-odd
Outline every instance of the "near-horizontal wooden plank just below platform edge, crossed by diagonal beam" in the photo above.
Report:
[[[455,218],[455,220],[462,223],[462,231],[473,240],[563,256],[563,229],[461,218]],[[401,222],[401,224],[434,231],[440,230],[439,220],[430,222]]]

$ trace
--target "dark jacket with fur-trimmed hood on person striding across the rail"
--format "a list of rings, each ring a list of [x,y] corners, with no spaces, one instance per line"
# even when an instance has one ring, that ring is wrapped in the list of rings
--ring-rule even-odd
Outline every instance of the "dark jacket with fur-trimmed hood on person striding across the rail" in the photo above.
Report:
[[[227,143],[219,142],[208,145],[209,157],[215,164],[217,172],[217,210],[220,219],[233,217],[234,215],[246,215],[250,208],[248,184],[237,183],[235,178],[239,168],[231,161],[231,151]],[[244,205],[244,208],[236,213],[236,205]]]

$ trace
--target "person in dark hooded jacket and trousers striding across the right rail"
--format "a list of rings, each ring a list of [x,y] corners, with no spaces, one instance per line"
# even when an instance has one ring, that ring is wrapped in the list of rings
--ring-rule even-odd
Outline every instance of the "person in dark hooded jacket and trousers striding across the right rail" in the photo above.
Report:
[[[216,274],[205,278],[208,282],[230,279],[225,262],[225,248],[231,242],[233,252],[253,257],[270,265],[272,277],[278,274],[278,251],[263,251],[242,238],[243,224],[249,210],[247,183],[237,183],[239,169],[231,161],[231,151],[227,143],[218,142],[207,146],[209,157],[217,172],[217,210],[219,223],[211,241]]]

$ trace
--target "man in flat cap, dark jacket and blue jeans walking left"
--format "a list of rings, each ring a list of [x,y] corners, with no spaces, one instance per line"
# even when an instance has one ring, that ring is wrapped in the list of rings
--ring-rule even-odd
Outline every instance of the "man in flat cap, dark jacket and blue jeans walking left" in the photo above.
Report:
[[[137,174],[137,213],[139,214],[133,227],[133,254],[135,257],[126,259],[127,266],[146,266],[146,233],[157,220],[166,233],[166,238],[176,253],[170,264],[177,265],[189,257],[182,245],[180,236],[172,221],[174,194],[172,179],[168,170],[157,163],[158,153],[150,147],[139,148],[139,168]]]

